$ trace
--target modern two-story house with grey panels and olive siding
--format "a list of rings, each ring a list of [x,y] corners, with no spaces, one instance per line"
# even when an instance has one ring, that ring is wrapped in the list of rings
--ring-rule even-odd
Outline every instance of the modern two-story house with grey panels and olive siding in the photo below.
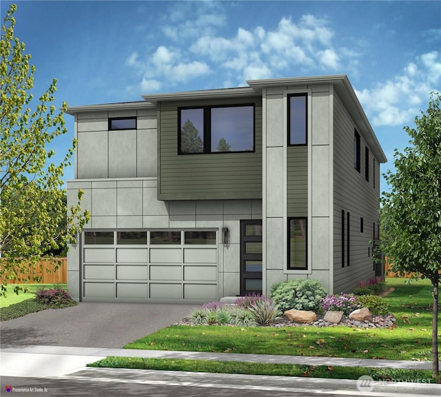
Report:
[[[201,303],[314,278],[375,275],[380,163],[345,75],[71,107],[68,203],[91,218],[68,253],[80,301]]]

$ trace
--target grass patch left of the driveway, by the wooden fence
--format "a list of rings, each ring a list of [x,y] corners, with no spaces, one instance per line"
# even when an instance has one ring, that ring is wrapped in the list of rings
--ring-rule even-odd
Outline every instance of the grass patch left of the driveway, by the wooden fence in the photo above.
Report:
[[[65,284],[57,284],[65,289]],[[50,289],[54,284],[22,284],[24,288],[28,288],[29,292],[20,292],[18,295],[14,294],[13,289],[15,285],[8,285],[8,296],[0,298],[0,321],[12,320],[25,316],[26,314],[41,312],[47,309],[62,309],[63,307],[70,307],[76,305],[76,302],[63,303],[59,305],[45,305],[34,300],[35,292],[41,287]]]

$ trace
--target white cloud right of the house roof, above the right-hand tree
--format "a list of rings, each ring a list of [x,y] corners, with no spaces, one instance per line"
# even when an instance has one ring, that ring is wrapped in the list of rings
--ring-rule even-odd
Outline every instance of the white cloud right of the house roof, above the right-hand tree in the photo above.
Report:
[[[430,93],[440,85],[441,54],[433,51],[416,57],[393,79],[357,95],[373,125],[406,125],[425,110]]]

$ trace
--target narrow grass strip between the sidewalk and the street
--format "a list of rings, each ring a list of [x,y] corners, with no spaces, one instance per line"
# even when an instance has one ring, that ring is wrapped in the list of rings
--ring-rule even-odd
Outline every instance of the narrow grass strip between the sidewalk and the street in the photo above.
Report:
[[[311,378],[358,379],[370,375],[374,379],[426,379],[429,383],[431,371],[371,367],[331,367],[311,365],[240,363],[236,361],[174,360],[170,358],[107,357],[89,367],[158,369],[163,371],[193,371],[223,374],[310,376]]]

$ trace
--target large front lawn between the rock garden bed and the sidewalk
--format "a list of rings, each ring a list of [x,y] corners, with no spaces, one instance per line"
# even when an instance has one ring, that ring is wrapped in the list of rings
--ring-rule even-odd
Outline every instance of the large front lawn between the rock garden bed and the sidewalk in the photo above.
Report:
[[[402,279],[388,279],[387,287],[395,288],[384,298],[397,318],[393,329],[172,325],[125,348],[431,360],[429,281],[404,285]]]

